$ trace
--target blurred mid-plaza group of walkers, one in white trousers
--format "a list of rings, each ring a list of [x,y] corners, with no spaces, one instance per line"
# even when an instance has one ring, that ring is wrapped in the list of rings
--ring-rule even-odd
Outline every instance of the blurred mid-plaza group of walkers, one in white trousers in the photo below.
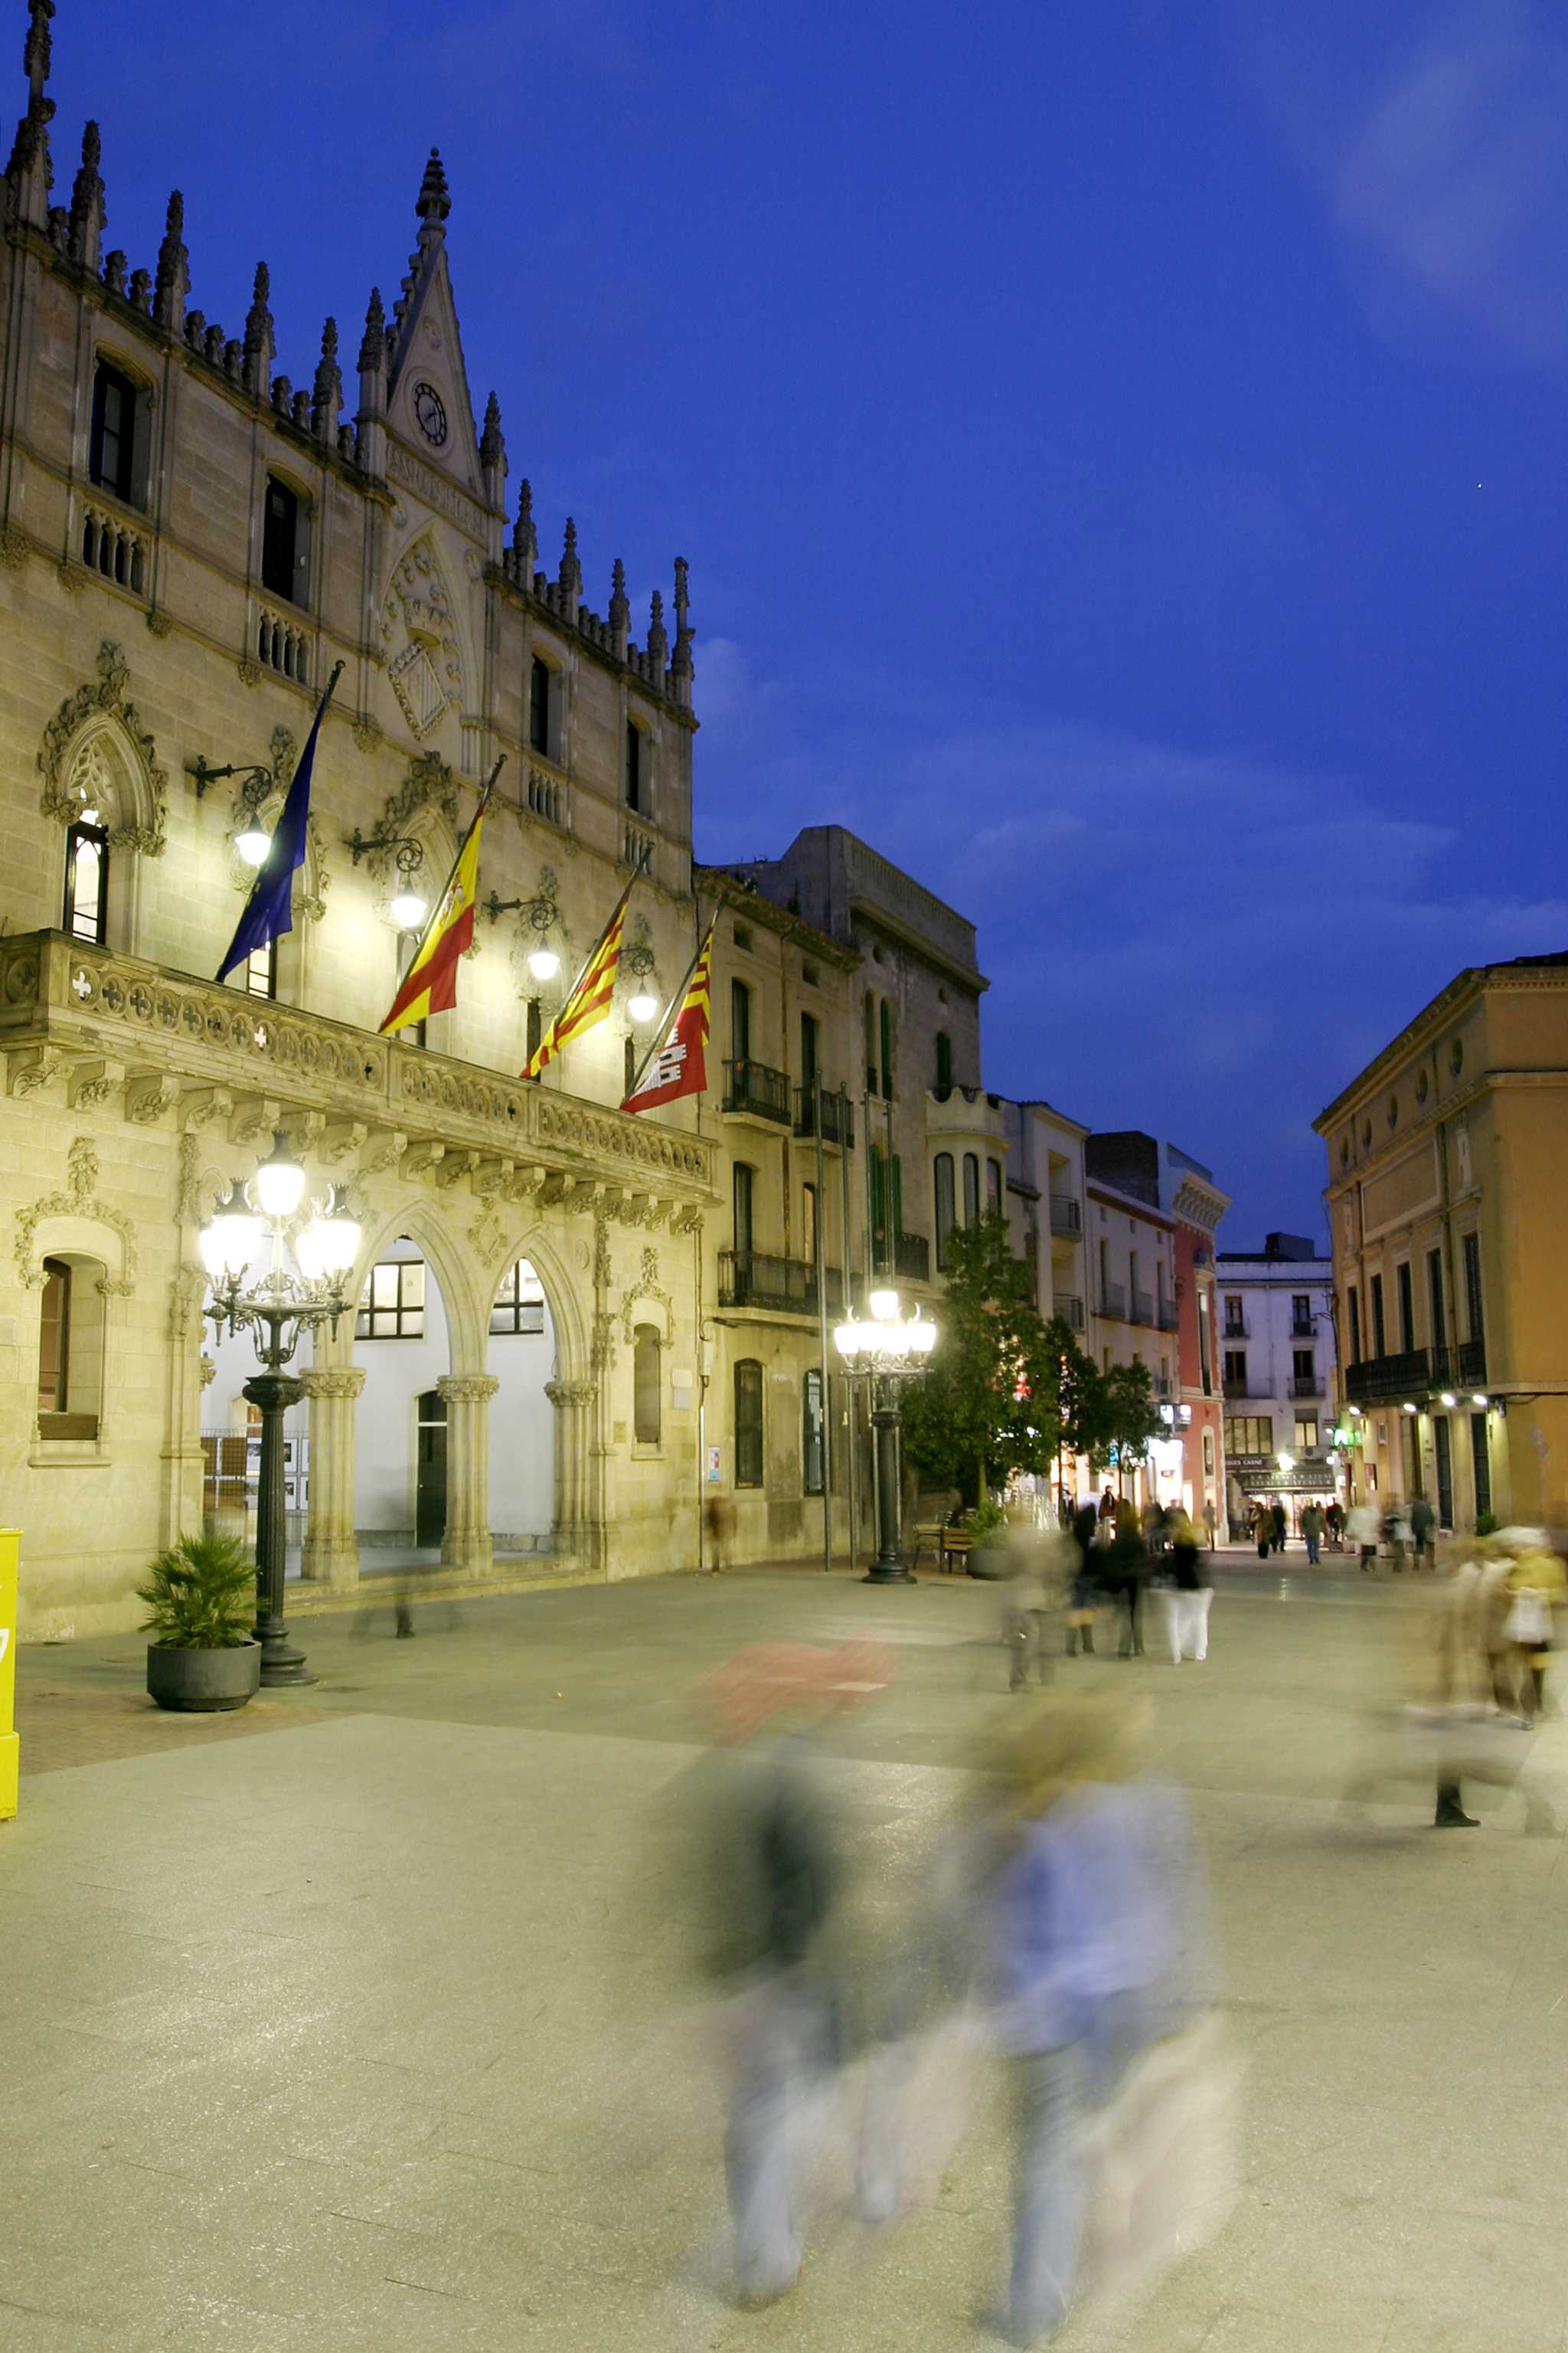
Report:
[[[1107,1489],[1110,1494],[1110,1489]],[[1157,1593],[1171,1664],[1208,1657],[1208,1605],[1213,1586],[1206,1548],[1185,1511],[1138,1508],[1126,1497],[1084,1504],[1065,1529],[1037,1527],[1027,1506],[1013,1506],[987,1546],[990,1574],[1006,1581],[1004,1640],[1013,1692],[1025,1689],[1030,1666],[1041,1682],[1051,1671],[1053,1628],[1063,1649],[1093,1657],[1095,1626],[1110,1617],[1117,1657],[1143,1657],[1145,1593]]]

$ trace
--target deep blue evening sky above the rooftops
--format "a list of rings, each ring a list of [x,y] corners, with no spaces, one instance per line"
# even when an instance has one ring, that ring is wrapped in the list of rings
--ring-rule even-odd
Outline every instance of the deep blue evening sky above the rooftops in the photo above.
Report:
[[[52,92],[56,195],[96,115],[108,242],[179,184],[296,384],[440,144],[541,560],[691,558],[698,854],[856,826],[978,920],[987,1085],[1173,1136],[1232,1247],[1568,946],[1561,9],[61,0]]]

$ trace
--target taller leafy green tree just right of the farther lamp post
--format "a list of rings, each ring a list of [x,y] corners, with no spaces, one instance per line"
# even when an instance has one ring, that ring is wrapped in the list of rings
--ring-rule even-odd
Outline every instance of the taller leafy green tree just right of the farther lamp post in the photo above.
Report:
[[[1016,1471],[1051,1473],[1060,1438],[1060,1346],[1034,1304],[1034,1268],[1016,1259],[1006,1217],[987,1209],[947,1238],[947,1297],[924,1381],[903,1395],[905,1457],[978,1499]],[[1067,1334],[1072,1341],[1072,1334]]]

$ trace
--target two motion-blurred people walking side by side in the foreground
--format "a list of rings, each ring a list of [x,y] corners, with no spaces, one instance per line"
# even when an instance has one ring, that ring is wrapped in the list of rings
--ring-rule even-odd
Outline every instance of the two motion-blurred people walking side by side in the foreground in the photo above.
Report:
[[[693,1828],[724,1993],[736,2294],[764,2306],[795,2287],[825,2141],[853,2151],[865,2224],[933,2195],[992,2049],[1013,2231],[985,2318],[1034,2346],[1079,2289],[1143,2285],[1222,2221],[1237,2087],[1187,1812],[1145,1772],[1145,1701],[1041,1697],[983,1737],[978,1798],[875,1960],[818,1734],[879,1680],[865,1657],[804,1645],[759,1645],[715,1678],[717,1781]]]

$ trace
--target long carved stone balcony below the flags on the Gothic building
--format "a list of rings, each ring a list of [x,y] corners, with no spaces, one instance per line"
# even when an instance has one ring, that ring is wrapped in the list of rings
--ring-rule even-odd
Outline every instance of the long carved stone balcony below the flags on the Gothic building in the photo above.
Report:
[[[649,1217],[656,1205],[696,1214],[712,1195],[703,1136],[63,932],[0,939],[0,1054],[9,1094],[61,1087],[82,1108],[120,1096],[136,1125],[219,1115],[235,1141],[289,1125],[346,1174],[402,1162],[543,1200],[583,1184]]]

